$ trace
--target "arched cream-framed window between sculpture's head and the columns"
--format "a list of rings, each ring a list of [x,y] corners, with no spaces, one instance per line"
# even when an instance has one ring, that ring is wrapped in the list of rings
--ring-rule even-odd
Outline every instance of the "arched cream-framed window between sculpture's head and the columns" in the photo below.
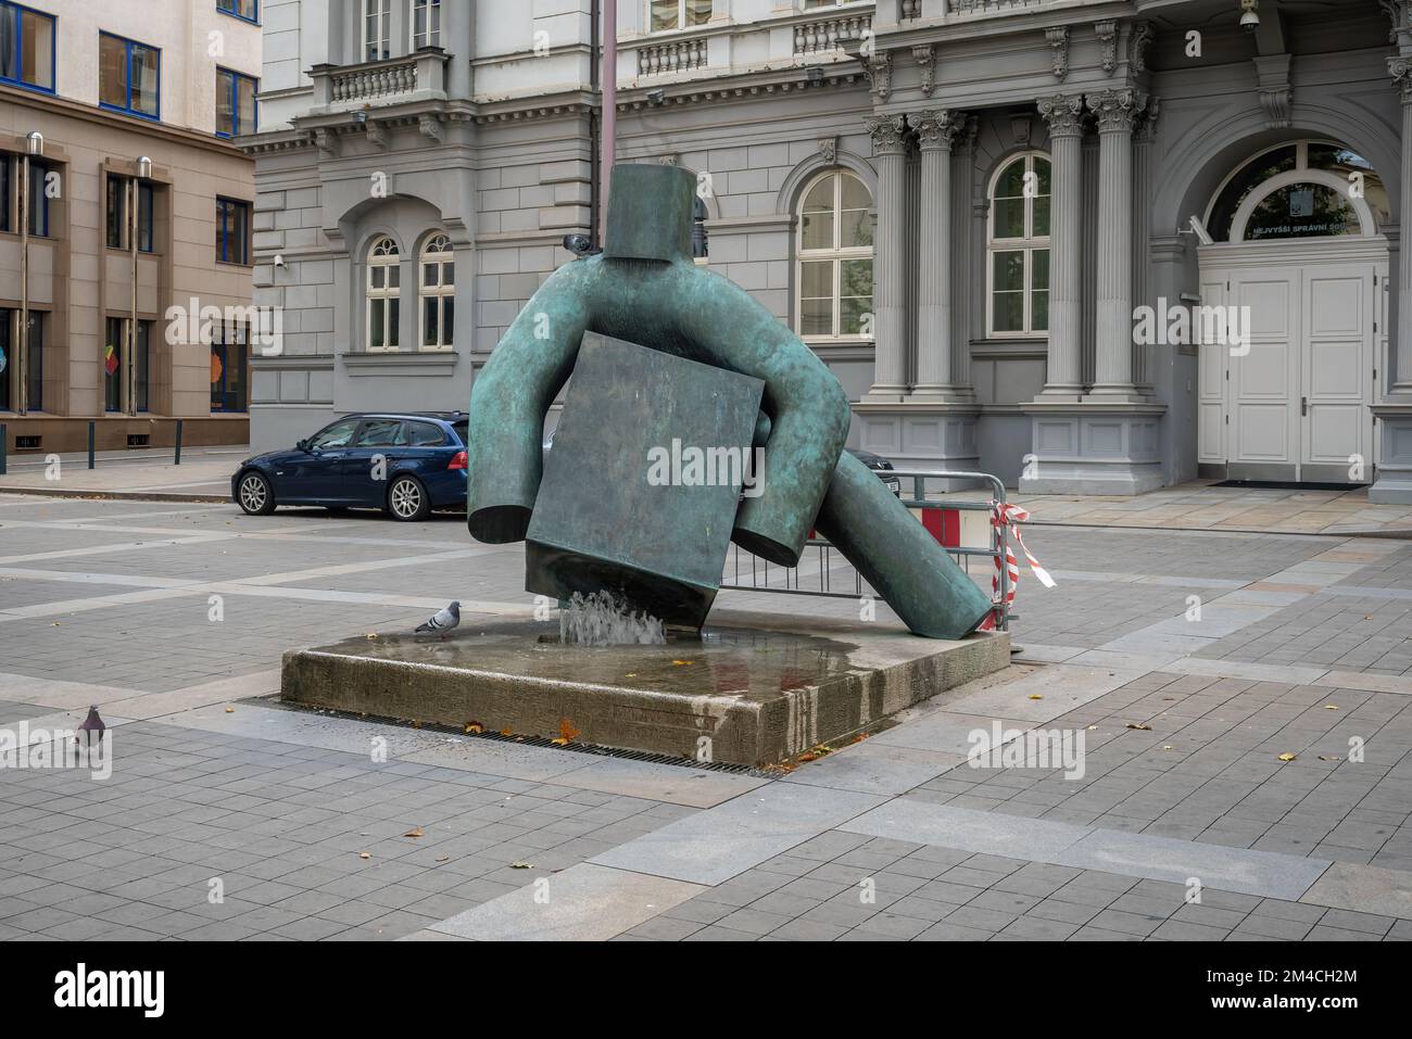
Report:
[[[799,203],[796,332],[805,342],[873,337],[873,196],[857,176],[816,176]]]

